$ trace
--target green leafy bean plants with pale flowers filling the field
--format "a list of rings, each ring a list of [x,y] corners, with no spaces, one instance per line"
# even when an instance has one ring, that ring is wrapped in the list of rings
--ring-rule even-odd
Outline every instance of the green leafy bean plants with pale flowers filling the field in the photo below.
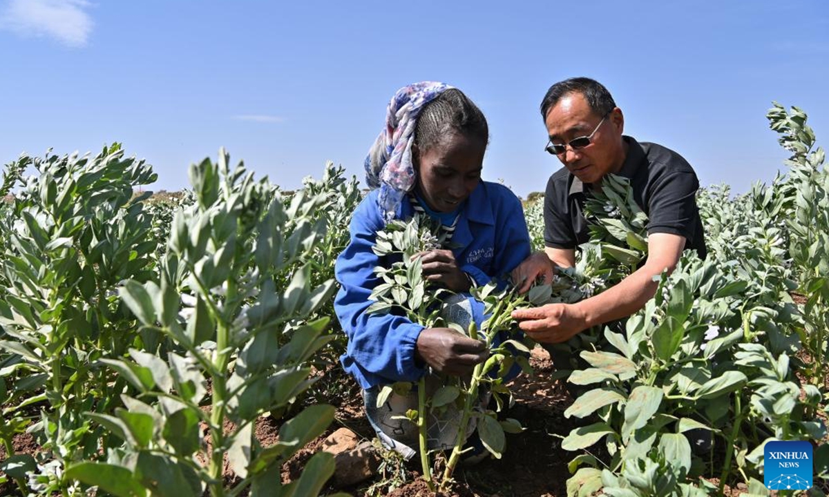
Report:
[[[574,358],[561,381],[574,392],[565,417],[575,427],[553,434],[571,455],[555,475],[567,495],[722,495],[738,484],[767,495],[764,445],[788,440],[812,442],[812,491],[827,488],[829,174],[805,113],[775,105],[768,119],[792,154],[785,174],[744,195],[698,193],[705,260],[686,251],[642,311],[556,345]],[[327,452],[289,481],[283,467],[327,432],[336,414],[327,398],[352,382],[337,365],[347,343],[332,299],[334,260],[361,200],[356,179],[329,163],[322,179],[285,192],[224,151],[191,166],[182,194],[133,193],[156,179],[119,144],[5,167],[0,490],[336,491]],[[525,205],[536,250],[542,208]],[[492,340],[516,330],[509,312],[603,292],[647,257],[647,215],[623,178],[604,181],[586,213],[591,239],[551,285],[521,296],[473,289],[490,317],[463,331],[491,345],[490,359],[422,398],[412,422],[455,403],[464,422],[476,418],[492,456],[509,453],[524,420],[502,415],[512,398],[505,378],[513,365],[531,374],[535,346],[520,335]],[[376,250],[417,253],[430,235],[417,218],[389,224]],[[419,277],[416,259],[403,259],[382,275],[373,311],[396,308],[427,324],[444,296]],[[411,385],[383,394],[395,388]],[[473,411],[478,388],[492,392],[491,410]],[[264,416],[278,439],[260,440]],[[24,435],[36,451],[20,450]],[[456,470],[462,442],[414,461],[429,488],[467,495]]]

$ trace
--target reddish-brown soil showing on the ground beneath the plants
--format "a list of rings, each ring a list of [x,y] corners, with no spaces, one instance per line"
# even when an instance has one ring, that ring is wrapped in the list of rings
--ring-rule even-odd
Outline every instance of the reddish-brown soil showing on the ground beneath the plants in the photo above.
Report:
[[[444,497],[564,497],[566,480],[570,477],[567,463],[578,453],[561,449],[560,436],[570,432],[576,419],[564,417],[565,409],[572,403],[572,398],[564,384],[552,379],[555,373],[549,355],[540,349],[533,350],[531,365],[535,370],[533,377],[521,375],[511,384],[515,405],[503,413],[503,417],[519,420],[525,431],[520,434],[507,434],[507,450],[502,459],[493,458],[482,461],[477,466],[458,467],[455,470],[455,483]],[[327,384],[314,395],[312,403],[327,402],[337,408],[332,426],[298,451],[282,468],[283,481],[294,480],[301,474],[308,460],[317,453],[328,435],[340,427],[347,427],[360,437],[371,440],[375,437],[362,411],[362,399],[359,388],[351,379],[342,378],[341,370],[327,369]],[[338,378],[337,378],[338,375]],[[315,386],[322,385],[322,381]],[[290,413],[288,413],[290,417]],[[255,434],[262,446],[273,445],[279,438],[279,427],[284,420],[262,417],[256,422]],[[228,426],[227,429],[232,427]],[[35,454],[39,450],[34,439],[27,434],[14,439],[17,453]],[[5,459],[5,451],[0,447],[0,461]],[[429,491],[425,481],[420,478],[419,461],[410,461],[404,466],[405,479],[385,479],[376,476],[374,480],[363,482],[351,488],[333,488],[328,486],[322,494],[346,492],[350,495],[388,495],[391,497],[427,497],[434,495]],[[235,475],[227,470],[225,483],[238,483]],[[390,473],[392,473],[390,471]],[[711,480],[717,483],[717,480]],[[12,482],[0,485],[0,495],[17,495]],[[736,497],[746,489],[744,485],[737,488],[726,487],[725,495]],[[243,493],[246,495],[247,493]]]

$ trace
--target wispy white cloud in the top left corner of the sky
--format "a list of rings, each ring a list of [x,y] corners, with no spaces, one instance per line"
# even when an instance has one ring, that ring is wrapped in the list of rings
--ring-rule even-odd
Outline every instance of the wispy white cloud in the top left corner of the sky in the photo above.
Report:
[[[0,27],[22,36],[51,36],[65,46],[81,47],[92,31],[85,0],[10,0]]]

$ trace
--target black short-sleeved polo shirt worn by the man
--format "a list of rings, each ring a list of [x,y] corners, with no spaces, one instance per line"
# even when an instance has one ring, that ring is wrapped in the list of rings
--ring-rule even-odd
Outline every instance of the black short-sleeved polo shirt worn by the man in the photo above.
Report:
[[[671,233],[686,238],[686,249],[705,258],[705,235],[696,191],[700,182],[691,165],[678,153],[656,143],[625,136],[628,157],[619,176],[630,179],[633,200],[647,214],[647,234]],[[584,201],[590,186],[562,167],[550,176],[544,197],[544,239],[547,247],[575,249],[590,238],[584,219]]]

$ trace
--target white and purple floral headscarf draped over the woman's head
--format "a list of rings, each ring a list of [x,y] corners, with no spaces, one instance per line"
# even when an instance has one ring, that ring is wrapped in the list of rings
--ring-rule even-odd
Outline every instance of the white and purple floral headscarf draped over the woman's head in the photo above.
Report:
[[[420,110],[450,88],[422,81],[397,90],[389,102],[385,128],[366,156],[366,182],[371,189],[380,188],[377,203],[386,222],[395,217],[400,201],[414,187],[411,148]]]

